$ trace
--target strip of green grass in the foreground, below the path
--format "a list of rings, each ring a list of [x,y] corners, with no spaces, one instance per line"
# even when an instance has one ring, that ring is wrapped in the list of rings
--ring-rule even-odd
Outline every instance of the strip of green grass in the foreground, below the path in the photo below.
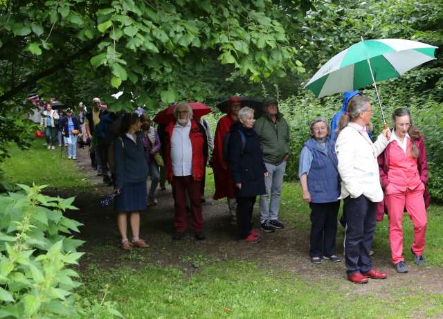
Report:
[[[125,318],[407,318],[443,313],[439,293],[377,292],[333,280],[300,280],[291,273],[264,271],[251,262],[220,262],[199,273],[175,267],[95,269],[83,293],[118,303]],[[357,291],[356,291],[357,290]]]

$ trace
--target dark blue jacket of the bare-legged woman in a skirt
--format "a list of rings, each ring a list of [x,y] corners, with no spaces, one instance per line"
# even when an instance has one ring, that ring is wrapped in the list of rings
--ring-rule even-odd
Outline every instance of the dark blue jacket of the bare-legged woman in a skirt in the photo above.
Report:
[[[134,143],[127,136],[114,140],[114,165],[116,188],[121,190],[125,183],[146,181],[147,163],[143,148],[143,133],[138,132]]]

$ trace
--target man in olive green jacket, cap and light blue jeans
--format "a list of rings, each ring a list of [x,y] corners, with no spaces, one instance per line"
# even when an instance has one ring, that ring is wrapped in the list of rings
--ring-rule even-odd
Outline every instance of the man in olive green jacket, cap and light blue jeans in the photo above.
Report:
[[[283,114],[278,111],[275,98],[264,99],[264,111],[264,115],[255,121],[254,129],[260,137],[263,161],[269,172],[268,177],[264,179],[266,194],[260,196],[260,224],[264,232],[271,233],[275,228],[284,227],[278,220],[278,209],[284,171],[289,158],[289,125]]]

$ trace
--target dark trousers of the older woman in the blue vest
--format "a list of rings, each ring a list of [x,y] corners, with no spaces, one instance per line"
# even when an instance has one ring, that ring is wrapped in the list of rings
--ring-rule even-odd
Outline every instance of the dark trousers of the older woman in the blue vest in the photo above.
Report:
[[[311,257],[335,255],[337,215],[340,202],[309,203],[311,207]]]

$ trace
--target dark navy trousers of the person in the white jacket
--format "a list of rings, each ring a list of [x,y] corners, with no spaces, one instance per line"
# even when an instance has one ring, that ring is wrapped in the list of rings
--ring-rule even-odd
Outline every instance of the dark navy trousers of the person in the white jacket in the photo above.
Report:
[[[372,262],[369,252],[377,228],[377,203],[361,195],[356,199],[346,197],[344,207],[347,225],[345,239],[347,275],[370,271]]]

